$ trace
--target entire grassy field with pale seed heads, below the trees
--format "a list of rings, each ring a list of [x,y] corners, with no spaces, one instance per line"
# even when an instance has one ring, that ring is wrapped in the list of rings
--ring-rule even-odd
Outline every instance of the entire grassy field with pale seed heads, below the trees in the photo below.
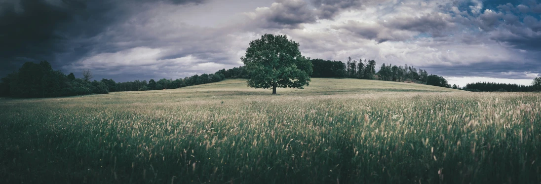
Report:
[[[0,99],[0,183],[539,183],[541,94],[313,78]]]

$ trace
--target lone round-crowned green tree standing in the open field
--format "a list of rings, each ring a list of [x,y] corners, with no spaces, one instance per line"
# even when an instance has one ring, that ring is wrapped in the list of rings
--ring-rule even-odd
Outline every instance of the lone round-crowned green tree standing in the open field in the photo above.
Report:
[[[272,88],[272,94],[278,87],[304,89],[312,75],[312,62],[301,55],[299,43],[287,40],[286,35],[265,34],[250,42],[241,60],[249,75],[248,86]]]

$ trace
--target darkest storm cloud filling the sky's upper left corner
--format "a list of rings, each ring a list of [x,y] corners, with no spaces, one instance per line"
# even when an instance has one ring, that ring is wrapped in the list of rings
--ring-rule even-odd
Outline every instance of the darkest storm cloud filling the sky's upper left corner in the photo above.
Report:
[[[53,67],[93,49],[89,40],[127,18],[134,6],[156,1],[8,0],[0,2],[0,75],[23,62],[48,60]],[[200,4],[203,0],[168,0]],[[69,54],[65,54],[69,53]],[[59,56],[61,55],[61,56]],[[59,58],[60,57],[60,58]]]

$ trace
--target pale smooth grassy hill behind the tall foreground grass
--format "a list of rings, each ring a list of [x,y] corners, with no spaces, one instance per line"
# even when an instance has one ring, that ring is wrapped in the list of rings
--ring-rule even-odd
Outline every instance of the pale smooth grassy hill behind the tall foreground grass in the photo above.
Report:
[[[422,92],[422,93],[469,93],[462,90],[442,88],[436,86],[428,86],[415,83],[376,81],[376,80],[361,80],[353,78],[312,78],[312,82],[305,89],[293,88],[278,88],[278,96],[318,96],[318,95],[339,95],[339,94],[382,94],[382,93],[405,93],[405,92]],[[183,98],[206,98],[209,96],[222,96],[223,98],[238,98],[239,96],[254,96],[262,95],[261,98],[269,98],[272,96],[272,89],[255,89],[247,86],[245,79],[227,79],[221,82],[201,84],[197,86],[184,87],[179,89],[169,90],[154,90],[154,91],[129,91],[115,92],[107,95],[90,95],[72,98],[80,98],[80,100],[94,100],[114,98],[124,102],[133,101],[185,101]],[[173,99],[171,99],[173,98]],[[55,99],[58,100],[58,99]]]

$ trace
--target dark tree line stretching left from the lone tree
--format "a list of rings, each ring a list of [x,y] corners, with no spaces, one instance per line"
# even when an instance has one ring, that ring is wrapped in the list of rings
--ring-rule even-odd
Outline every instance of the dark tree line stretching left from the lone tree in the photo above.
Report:
[[[76,78],[73,73],[63,74],[53,70],[50,63],[26,62],[18,71],[0,79],[0,96],[11,97],[61,97],[89,94],[108,94],[115,91],[143,91],[176,89],[211,82],[219,82],[225,78],[247,78],[245,67],[221,69],[214,74],[193,75],[176,80],[162,78],[135,80],[130,82],[115,82],[103,78],[101,81],[91,81],[94,76],[90,70],[83,70],[82,78]]]

